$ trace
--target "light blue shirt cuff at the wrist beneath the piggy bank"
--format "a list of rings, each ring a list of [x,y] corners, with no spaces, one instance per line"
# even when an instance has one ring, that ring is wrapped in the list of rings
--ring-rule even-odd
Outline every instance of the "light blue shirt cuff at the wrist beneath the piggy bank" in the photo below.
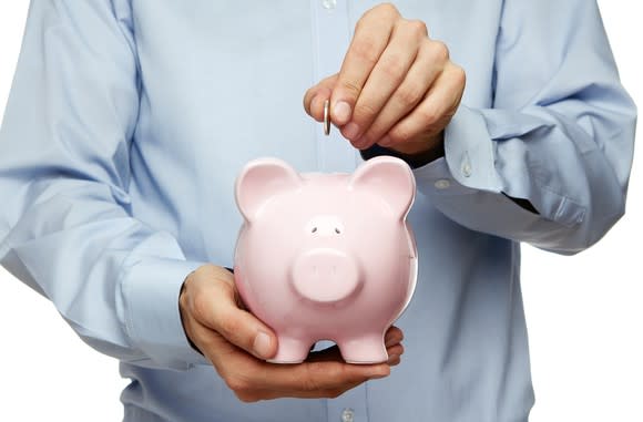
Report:
[[[156,364],[185,370],[210,362],[190,346],[178,310],[183,281],[203,263],[145,258],[123,280],[126,328],[139,348]]]

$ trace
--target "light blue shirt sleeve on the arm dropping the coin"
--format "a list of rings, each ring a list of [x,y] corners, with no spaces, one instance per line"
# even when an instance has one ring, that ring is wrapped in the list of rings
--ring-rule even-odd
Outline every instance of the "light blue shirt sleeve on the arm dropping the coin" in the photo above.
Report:
[[[598,4],[507,0],[496,54],[493,107],[460,106],[418,188],[473,230],[581,251],[624,213],[636,122]]]

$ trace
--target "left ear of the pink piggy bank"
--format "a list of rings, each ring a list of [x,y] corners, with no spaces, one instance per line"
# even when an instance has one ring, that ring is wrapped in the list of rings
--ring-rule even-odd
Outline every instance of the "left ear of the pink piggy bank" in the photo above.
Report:
[[[244,218],[252,222],[268,199],[300,185],[302,178],[285,162],[277,158],[254,159],[246,164],[236,179],[236,205]]]

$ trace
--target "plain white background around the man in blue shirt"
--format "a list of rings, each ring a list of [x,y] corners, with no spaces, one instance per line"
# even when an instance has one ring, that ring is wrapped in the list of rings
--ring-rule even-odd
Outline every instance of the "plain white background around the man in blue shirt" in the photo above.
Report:
[[[641,104],[643,30],[636,4],[600,1],[623,83]],[[24,0],[0,0],[0,112],[27,8]],[[627,213],[599,245],[574,257],[523,247],[537,393],[532,422],[643,421],[642,154],[639,145]],[[126,382],[118,362],[86,347],[50,302],[3,269],[0,327],[0,420],[122,419],[119,394]]]

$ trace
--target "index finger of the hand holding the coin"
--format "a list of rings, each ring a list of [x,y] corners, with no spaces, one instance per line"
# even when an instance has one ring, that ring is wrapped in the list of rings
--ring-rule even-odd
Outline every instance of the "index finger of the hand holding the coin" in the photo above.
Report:
[[[345,125],[350,120],[361,89],[386,49],[398,19],[399,12],[392,4],[382,4],[366,12],[357,22],[330,100],[330,115],[336,125]]]

